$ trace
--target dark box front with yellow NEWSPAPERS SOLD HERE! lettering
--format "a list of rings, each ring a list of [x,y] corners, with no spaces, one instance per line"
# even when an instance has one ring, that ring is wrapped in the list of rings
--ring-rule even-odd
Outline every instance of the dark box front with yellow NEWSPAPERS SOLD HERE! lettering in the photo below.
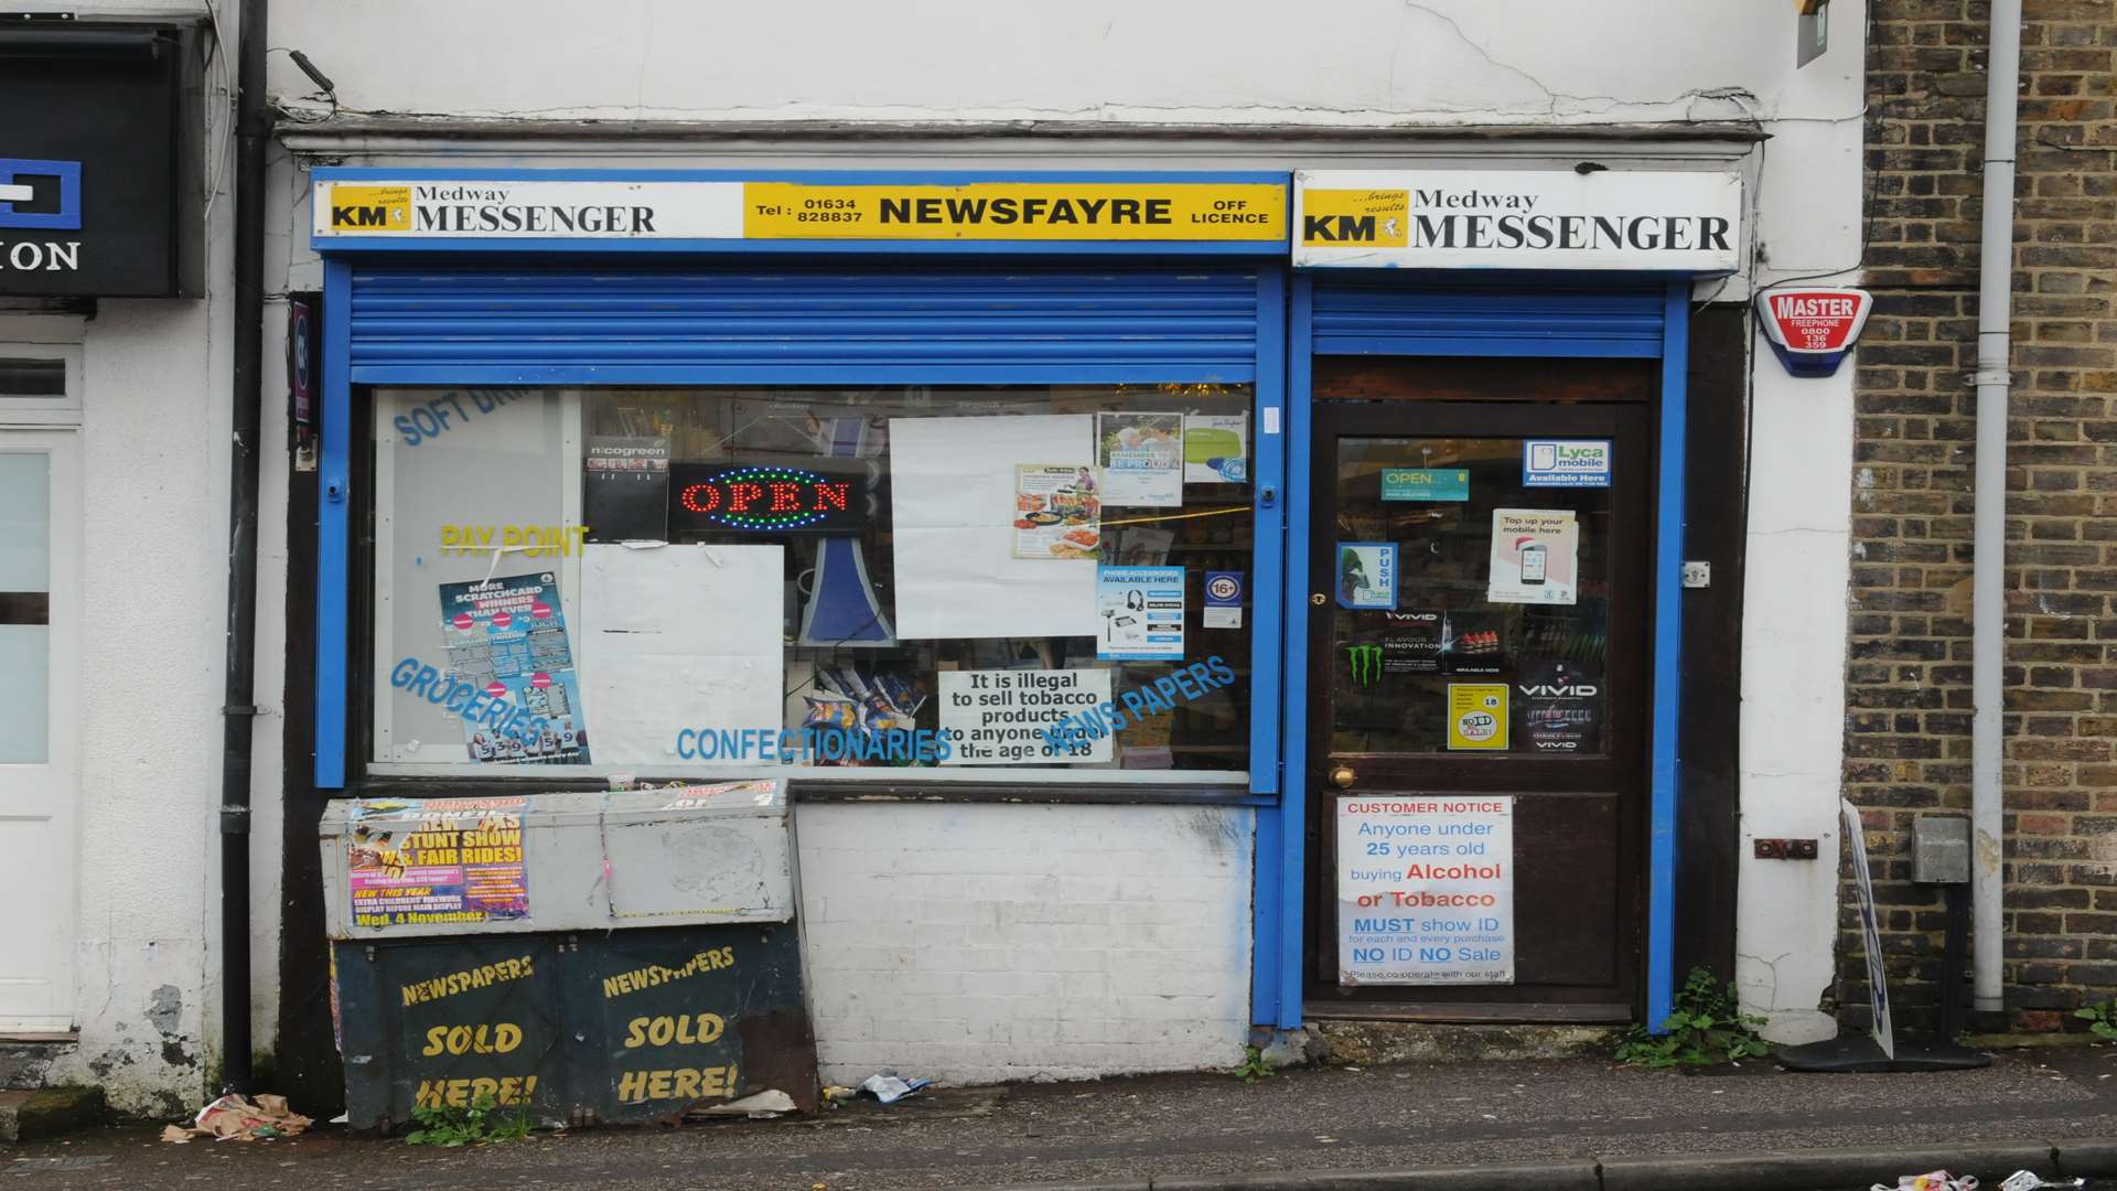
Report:
[[[332,949],[356,1130],[481,1100],[546,1125],[673,1121],[758,1091],[817,1106],[792,924]]]

